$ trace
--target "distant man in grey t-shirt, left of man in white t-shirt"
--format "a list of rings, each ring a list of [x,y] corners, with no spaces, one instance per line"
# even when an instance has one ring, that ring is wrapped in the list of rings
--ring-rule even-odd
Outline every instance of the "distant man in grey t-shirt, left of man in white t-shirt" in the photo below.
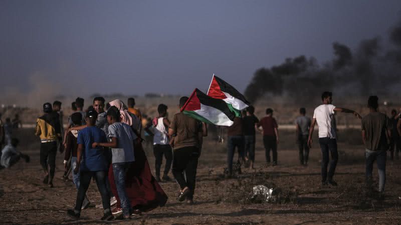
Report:
[[[305,108],[300,108],[299,114],[300,115],[295,119],[299,160],[301,165],[307,165],[309,157],[308,135],[311,120],[308,116],[305,116]]]

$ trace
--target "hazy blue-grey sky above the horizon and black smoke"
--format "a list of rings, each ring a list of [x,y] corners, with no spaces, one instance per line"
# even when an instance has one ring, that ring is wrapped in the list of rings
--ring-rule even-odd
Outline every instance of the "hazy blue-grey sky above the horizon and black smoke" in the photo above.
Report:
[[[400,0],[0,0],[0,92],[188,95],[213,73],[243,91],[286,57],[331,59],[333,41],[387,42],[400,11]]]

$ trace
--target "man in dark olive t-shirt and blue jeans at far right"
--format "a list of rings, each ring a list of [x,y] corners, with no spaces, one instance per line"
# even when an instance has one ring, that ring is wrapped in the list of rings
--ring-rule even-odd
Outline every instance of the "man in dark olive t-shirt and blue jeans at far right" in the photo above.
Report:
[[[370,112],[362,118],[362,141],[365,144],[366,183],[369,187],[372,184],[373,162],[376,160],[379,174],[379,197],[383,197],[386,151],[389,149],[387,140],[391,136],[392,124],[384,113],[377,111],[377,100],[377,96],[369,96],[367,101]]]

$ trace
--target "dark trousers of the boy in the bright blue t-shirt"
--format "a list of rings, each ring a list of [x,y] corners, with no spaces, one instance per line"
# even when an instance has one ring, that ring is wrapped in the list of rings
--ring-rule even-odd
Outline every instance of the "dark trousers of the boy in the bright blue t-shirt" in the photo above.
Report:
[[[95,177],[97,188],[102,196],[103,209],[105,211],[110,211],[110,195],[106,189],[107,171],[80,171],[80,173],[80,184],[75,203],[75,210],[81,211],[82,203],[86,196],[86,191],[88,190],[89,183],[91,182],[93,176]]]

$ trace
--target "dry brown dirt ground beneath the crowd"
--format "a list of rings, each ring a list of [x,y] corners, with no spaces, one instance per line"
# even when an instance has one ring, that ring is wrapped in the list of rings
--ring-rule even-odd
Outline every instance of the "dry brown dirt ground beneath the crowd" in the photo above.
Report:
[[[0,170],[1,223],[102,223],[102,209],[89,208],[81,219],[73,221],[66,214],[75,204],[76,189],[71,181],[64,182],[63,154],[57,155],[54,188],[42,183],[39,164],[39,139],[33,129],[15,131],[21,140],[19,147],[31,156],[31,162],[20,161],[14,167]],[[131,220],[115,220],[121,224],[397,224],[401,223],[401,160],[387,160],[385,199],[367,191],[364,186],[363,147],[357,129],[339,133],[340,151],[334,179],[338,186],[320,184],[320,148],[317,139],[310,151],[308,166],[299,164],[293,131],[280,131],[279,164],[267,166],[261,136],[257,136],[256,167],[242,168],[237,178],[224,179],[226,145],[212,137],[205,139],[199,159],[193,205],[176,200],[175,182],[162,182],[169,196],[167,204]],[[154,157],[147,149],[149,163]],[[237,155],[235,155],[237,158]],[[169,174],[172,177],[172,174]],[[373,170],[377,188],[377,169]],[[277,201],[253,202],[249,196],[253,185],[272,186]],[[96,184],[88,190],[91,201],[99,204]]]

